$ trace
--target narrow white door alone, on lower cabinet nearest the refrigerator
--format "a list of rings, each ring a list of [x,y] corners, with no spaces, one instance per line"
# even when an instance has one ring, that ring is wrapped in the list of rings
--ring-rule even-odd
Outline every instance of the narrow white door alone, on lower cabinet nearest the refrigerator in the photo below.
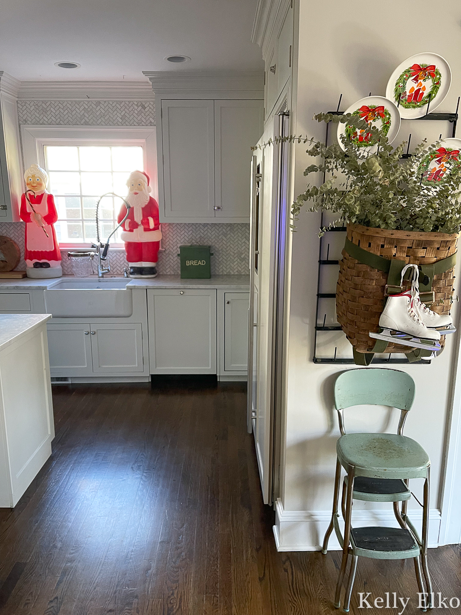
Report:
[[[224,293],[224,370],[248,365],[248,293]]]

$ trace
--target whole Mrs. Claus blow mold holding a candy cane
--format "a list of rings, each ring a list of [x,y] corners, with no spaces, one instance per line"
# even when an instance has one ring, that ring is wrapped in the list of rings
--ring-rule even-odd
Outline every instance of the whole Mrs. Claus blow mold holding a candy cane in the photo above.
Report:
[[[26,191],[21,197],[20,217],[26,223],[27,277],[61,277],[61,252],[53,224],[58,220],[53,195],[46,191],[47,173],[32,164],[24,173]]]

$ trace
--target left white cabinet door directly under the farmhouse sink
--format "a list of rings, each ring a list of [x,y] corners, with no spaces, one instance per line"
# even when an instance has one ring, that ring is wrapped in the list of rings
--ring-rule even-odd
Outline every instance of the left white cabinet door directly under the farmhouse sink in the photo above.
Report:
[[[52,376],[93,373],[90,325],[47,325]]]

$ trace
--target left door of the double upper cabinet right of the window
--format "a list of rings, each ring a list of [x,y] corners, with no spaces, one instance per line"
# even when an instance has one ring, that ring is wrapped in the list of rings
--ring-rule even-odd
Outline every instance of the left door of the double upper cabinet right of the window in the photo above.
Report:
[[[165,220],[214,216],[213,117],[213,100],[162,100]]]

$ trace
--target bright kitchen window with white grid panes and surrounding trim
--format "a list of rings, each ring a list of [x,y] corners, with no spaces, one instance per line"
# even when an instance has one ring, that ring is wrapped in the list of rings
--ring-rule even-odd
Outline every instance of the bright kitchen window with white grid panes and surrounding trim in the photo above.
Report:
[[[95,207],[106,192],[127,196],[128,175],[139,169],[151,179],[157,199],[154,127],[22,125],[24,164],[33,162],[49,175],[55,197],[60,247],[88,247],[96,239]],[[117,224],[122,200],[104,197],[99,207],[100,236],[105,241]],[[122,248],[120,233],[111,246]]]

